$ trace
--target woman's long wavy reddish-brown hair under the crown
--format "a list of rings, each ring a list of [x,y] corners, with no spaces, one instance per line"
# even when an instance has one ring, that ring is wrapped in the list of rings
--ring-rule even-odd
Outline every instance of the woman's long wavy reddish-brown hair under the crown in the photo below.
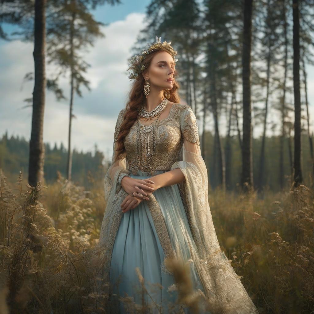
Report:
[[[150,62],[153,59],[154,55],[159,51],[163,50],[158,49],[156,51],[153,51],[149,53],[149,55],[147,55],[147,57],[143,60],[143,64],[145,65],[146,69],[149,67]],[[168,99],[169,101],[174,103],[180,102],[180,97],[178,95],[179,84],[176,82],[175,79],[177,76],[178,73],[177,71],[175,71],[173,73],[174,80],[172,89],[170,90],[170,98]],[[125,152],[125,147],[123,143],[124,139],[130,132],[130,128],[133,126],[134,122],[137,120],[138,110],[140,106],[142,106],[142,104],[144,104],[144,101],[146,100],[146,97],[144,95],[144,84],[145,79],[143,75],[140,73],[136,81],[133,83],[133,86],[129,92],[129,101],[126,104],[126,111],[124,113],[123,122],[121,124],[120,132],[117,137],[116,160],[118,159],[118,156]]]

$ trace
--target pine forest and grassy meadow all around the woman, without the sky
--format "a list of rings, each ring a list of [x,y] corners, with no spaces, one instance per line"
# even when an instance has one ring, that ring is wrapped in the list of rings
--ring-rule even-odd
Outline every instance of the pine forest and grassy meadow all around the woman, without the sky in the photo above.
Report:
[[[109,5],[124,4],[1,2],[0,38],[31,42],[34,72],[21,78],[33,84],[30,139],[0,136],[0,314],[114,313],[95,292],[106,254],[94,250],[111,155],[71,142],[75,97],[92,92],[83,51],[106,36],[92,12]],[[261,314],[314,312],[313,19],[311,0],[151,0],[130,51],[158,34],[180,54],[180,97],[198,120],[217,238]],[[69,108],[60,147],[43,139],[47,93]],[[178,302],[199,313],[186,269],[177,271]],[[163,313],[121,300],[131,313]]]

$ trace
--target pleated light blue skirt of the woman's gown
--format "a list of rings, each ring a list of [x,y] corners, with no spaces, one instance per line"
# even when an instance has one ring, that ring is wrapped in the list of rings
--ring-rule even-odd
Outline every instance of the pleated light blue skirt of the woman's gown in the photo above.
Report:
[[[162,172],[164,171],[157,171],[157,173]],[[131,177],[146,179],[151,176],[147,176],[147,172],[138,171],[137,176],[131,175]],[[185,235],[188,233],[194,246],[195,242],[187,221],[178,184],[161,187],[154,191],[153,195],[160,205],[172,247],[179,245],[185,261],[188,261],[191,256]],[[182,225],[182,223],[177,223],[179,219],[183,220],[185,226],[183,230],[177,227]],[[172,274],[162,271],[160,265],[164,258],[165,255],[149,207],[146,201],[142,201],[138,207],[122,214],[113,246],[109,275],[113,293],[111,302],[115,304],[119,313],[129,313],[123,302],[118,300],[120,296],[132,297],[131,300],[139,305],[142,305],[144,301],[145,304],[151,306],[152,310],[149,311],[151,313],[172,312],[170,311],[170,305],[173,306],[177,300],[178,292],[168,290],[172,284],[175,284],[175,280]],[[190,263],[190,265],[193,288],[204,292],[194,264]],[[135,270],[136,267],[140,269],[148,293],[142,293],[143,290]],[[178,311],[179,307],[174,309]],[[188,308],[184,308],[184,312],[190,313]],[[209,312],[203,310],[200,313]]]

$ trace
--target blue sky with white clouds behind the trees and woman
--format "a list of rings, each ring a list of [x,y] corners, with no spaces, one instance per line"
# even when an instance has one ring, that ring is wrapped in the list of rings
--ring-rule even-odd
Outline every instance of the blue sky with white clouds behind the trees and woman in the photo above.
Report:
[[[83,98],[74,97],[72,124],[72,148],[78,151],[103,151],[106,158],[111,157],[113,132],[119,111],[125,107],[131,83],[127,78],[127,59],[130,49],[139,34],[145,28],[146,6],[151,0],[123,1],[116,6],[105,5],[95,10],[95,19],[103,23],[105,38],[97,39],[89,52],[84,53],[84,60],[91,67],[85,74],[90,81],[91,91],[83,88]],[[8,30],[8,28],[7,28]],[[12,27],[10,27],[12,30]],[[156,34],[158,35],[158,34]],[[170,41],[169,38],[162,40]],[[152,38],[151,42],[154,42]],[[33,81],[23,83],[25,73],[34,71],[33,44],[18,40],[0,41],[0,136],[8,130],[11,135],[24,136],[30,139],[31,108],[23,100],[30,98],[33,92]],[[180,51],[178,51],[180,60]],[[54,68],[46,66],[47,77]],[[64,94],[69,96],[69,79],[62,78],[60,85]],[[314,67],[308,67],[308,93],[310,104],[314,103]],[[184,102],[184,99],[182,99]],[[311,125],[313,130],[314,110],[310,106]],[[61,142],[67,147],[68,138],[68,100],[57,101],[51,92],[46,92],[44,115],[44,142],[51,145]],[[275,112],[269,115],[269,121],[279,121]],[[208,116],[208,129],[213,130],[212,116]],[[254,123],[254,121],[253,121]],[[201,119],[198,120],[201,130]],[[221,117],[221,134],[225,134],[225,116]],[[254,128],[253,136],[260,133]],[[268,133],[268,135],[271,135]]]

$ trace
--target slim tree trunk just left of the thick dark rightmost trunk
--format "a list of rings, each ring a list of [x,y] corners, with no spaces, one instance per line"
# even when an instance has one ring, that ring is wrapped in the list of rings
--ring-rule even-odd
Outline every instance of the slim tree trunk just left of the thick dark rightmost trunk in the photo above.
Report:
[[[281,135],[279,141],[279,185],[284,188],[284,137],[285,137],[285,105],[286,105],[286,82],[288,72],[288,36],[287,36],[287,16],[286,16],[286,2],[282,2],[282,20],[284,21],[284,82],[283,82],[283,95],[281,98]]]

